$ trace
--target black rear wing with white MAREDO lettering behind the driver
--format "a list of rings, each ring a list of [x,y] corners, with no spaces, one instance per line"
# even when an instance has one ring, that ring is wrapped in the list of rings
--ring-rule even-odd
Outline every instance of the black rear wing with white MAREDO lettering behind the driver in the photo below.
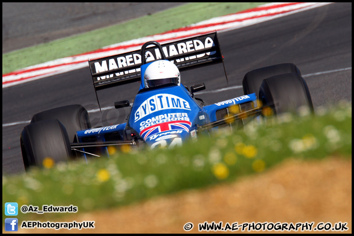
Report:
[[[196,37],[162,44],[166,59],[174,62],[180,71],[195,66],[223,62],[219,39],[216,31]],[[146,62],[161,59],[157,46],[145,50]],[[122,84],[139,82],[140,66],[142,65],[141,51],[118,54],[101,59],[89,60],[89,67],[96,91]],[[224,65],[225,71],[225,65]],[[227,75],[225,71],[226,80]],[[97,98],[98,100],[98,98]]]

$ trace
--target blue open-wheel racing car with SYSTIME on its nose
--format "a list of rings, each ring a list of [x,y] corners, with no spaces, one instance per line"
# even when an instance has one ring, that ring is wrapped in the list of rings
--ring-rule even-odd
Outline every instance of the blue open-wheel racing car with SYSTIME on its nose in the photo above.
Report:
[[[116,109],[131,107],[126,122],[91,127],[82,105],[68,105],[35,114],[20,138],[25,169],[72,158],[109,156],[108,147],[145,145],[150,148],[180,146],[189,139],[227,125],[242,127],[256,118],[295,112],[305,106],[313,112],[311,95],[293,63],[271,65],[245,74],[244,95],[206,105],[195,93],[204,83],[184,86],[180,72],[222,63],[227,73],[217,32],[166,44],[149,41],[140,50],[89,60],[97,91],[128,83],[140,84],[133,103],[115,102]],[[268,108],[268,109],[266,109]]]

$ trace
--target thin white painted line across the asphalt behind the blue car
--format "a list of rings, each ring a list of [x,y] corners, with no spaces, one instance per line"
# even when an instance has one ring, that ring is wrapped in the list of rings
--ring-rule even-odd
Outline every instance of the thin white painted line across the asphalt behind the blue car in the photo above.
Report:
[[[345,70],[351,70],[351,69],[352,69],[352,67],[346,67],[346,68],[341,68],[341,69],[336,69],[336,70],[327,70],[327,71],[302,75],[302,77],[305,78],[305,77],[329,74],[329,73],[333,73],[333,72],[345,71]],[[226,91],[226,90],[230,90],[230,89],[242,89],[242,86],[237,85],[237,86],[227,87],[227,88],[223,88],[223,89],[215,89],[215,90],[209,90],[209,91],[203,91],[203,92],[196,92],[195,94],[199,95],[199,94],[203,94],[203,93],[218,93],[218,92],[222,92],[222,91]],[[130,104],[130,105],[132,105],[132,104]],[[103,107],[103,108],[101,108],[101,111],[109,110],[109,109],[113,109],[113,108],[114,108],[113,106]],[[89,113],[99,112],[99,109],[92,109],[92,110],[89,110],[88,112]],[[2,124],[2,127],[13,126],[13,125],[18,125],[18,124],[27,124],[27,123],[30,123],[30,120]]]

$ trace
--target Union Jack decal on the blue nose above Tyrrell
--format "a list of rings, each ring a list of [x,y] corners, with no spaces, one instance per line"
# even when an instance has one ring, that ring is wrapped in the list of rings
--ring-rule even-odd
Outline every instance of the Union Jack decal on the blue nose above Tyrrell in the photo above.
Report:
[[[139,134],[140,137],[142,137],[144,141],[146,141],[149,136],[164,131],[181,129],[189,132],[191,126],[192,123],[186,120],[168,121],[160,124],[151,125],[148,128],[143,129]]]

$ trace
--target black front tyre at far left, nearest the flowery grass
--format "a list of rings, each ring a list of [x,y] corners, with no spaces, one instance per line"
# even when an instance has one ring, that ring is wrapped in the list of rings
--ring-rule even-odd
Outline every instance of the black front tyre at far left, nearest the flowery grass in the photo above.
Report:
[[[26,171],[30,166],[42,167],[45,158],[58,163],[68,161],[72,155],[68,134],[58,119],[42,120],[25,126],[20,143]]]

